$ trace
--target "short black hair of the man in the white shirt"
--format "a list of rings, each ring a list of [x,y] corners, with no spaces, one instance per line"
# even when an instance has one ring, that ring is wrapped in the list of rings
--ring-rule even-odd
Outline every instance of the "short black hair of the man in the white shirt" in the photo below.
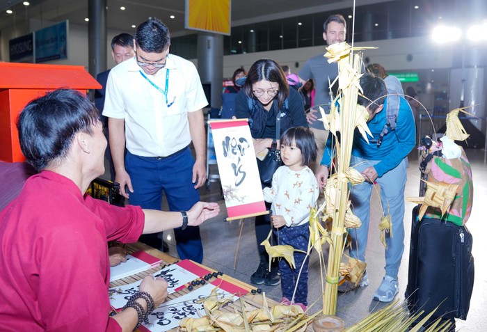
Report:
[[[162,53],[170,45],[169,29],[160,19],[149,17],[147,21],[137,26],[135,42],[143,52]]]

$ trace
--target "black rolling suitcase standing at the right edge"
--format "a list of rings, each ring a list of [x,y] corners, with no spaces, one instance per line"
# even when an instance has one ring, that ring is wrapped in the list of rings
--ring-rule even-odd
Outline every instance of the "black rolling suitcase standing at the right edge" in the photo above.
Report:
[[[472,235],[465,226],[440,219],[417,219],[413,209],[406,299],[412,313],[466,319],[474,285]],[[424,315],[422,317],[424,317]],[[421,319],[421,318],[420,318]]]

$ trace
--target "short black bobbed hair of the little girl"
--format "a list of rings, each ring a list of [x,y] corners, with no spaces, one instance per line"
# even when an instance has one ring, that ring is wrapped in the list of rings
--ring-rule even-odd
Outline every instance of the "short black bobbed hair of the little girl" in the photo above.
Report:
[[[291,145],[292,141],[296,143],[296,147],[301,150],[303,157],[303,165],[310,166],[315,159],[317,159],[317,143],[314,141],[314,134],[307,127],[291,127],[288,128],[280,137],[281,145]]]

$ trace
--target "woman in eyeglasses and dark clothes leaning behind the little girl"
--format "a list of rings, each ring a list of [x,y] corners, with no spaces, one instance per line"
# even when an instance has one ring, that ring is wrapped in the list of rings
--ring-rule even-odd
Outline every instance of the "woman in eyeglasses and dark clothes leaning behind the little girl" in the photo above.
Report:
[[[250,67],[245,84],[237,94],[235,113],[237,118],[249,119],[255,155],[265,153],[269,148],[279,148],[279,142],[276,141],[278,116],[279,137],[290,127],[308,127],[303,97],[295,89],[289,89],[280,65],[270,59],[258,60]],[[269,186],[262,184],[262,187]],[[267,208],[270,209],[270,205]],[[269,255],[264,246],[260,245],[270,230],[269,214],[255,217],[255,235],[260,255],[259,267],[250,277],[250,282],[255,285],[264,283],[275,286],[280,283],[278,264],[274,264],[271,271],[268,271]]]

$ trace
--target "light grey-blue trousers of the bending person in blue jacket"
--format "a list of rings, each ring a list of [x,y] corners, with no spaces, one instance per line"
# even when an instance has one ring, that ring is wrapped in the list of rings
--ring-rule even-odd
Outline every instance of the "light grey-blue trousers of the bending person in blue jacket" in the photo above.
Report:
[[[360,157],[351,157],[351,166],[362,172],[369,166],[374,166],[379,161],[367,160]],[[404,252],[404,189],[406,187],[406,162],[403,159],[399,165],[378,177],[376,183],[381,187],[381,203],[385,214],[391,215],[392,237],[390,233],[385,235],[385,274],[397,278],[401,258]],[[367,235],[369,233],[370,198],[374,184],[362,182],[353,186],[351,201],[353,213],[360,218],[362,226],[350,230],[352,237],[352,248],[349,253],[353,258],[365,261],[365,247],[367,246]],[[378,232],[377,230],[375,230]]]

